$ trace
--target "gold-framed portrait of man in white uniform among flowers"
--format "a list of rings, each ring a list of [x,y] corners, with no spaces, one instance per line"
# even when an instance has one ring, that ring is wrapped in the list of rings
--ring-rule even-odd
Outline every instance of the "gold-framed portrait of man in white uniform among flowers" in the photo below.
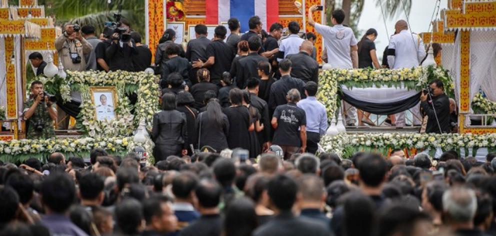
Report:
[[[117,90],[115,87],[89,87],[91,102],[95,106],[96,120],[115,119]]]

